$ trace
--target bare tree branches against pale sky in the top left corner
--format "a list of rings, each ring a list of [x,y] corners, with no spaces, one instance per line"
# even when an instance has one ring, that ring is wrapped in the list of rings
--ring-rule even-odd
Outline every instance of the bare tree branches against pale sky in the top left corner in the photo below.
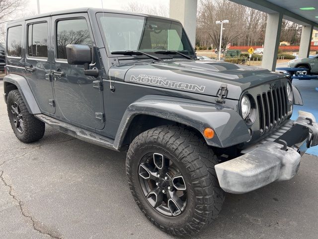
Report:
[[[0,42],[5,41],[5,25],[12,19],[33,15],[33,12],[24,11],[28,0],[0,0]]]

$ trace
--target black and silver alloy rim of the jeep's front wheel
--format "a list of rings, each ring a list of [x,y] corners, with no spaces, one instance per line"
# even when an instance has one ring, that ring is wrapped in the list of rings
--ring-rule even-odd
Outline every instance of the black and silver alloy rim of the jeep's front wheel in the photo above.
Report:
[[[139,180],[143,193],[159,213],[175,217],[187,202],[187,188],[178,167],[166,156],[152,152],[141,160]]]

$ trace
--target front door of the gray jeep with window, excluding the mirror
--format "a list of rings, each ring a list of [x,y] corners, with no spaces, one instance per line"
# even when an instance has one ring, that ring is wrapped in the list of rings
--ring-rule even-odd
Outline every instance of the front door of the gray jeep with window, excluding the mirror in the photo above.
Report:
[[[87,13],[52,16],[51,29],[55,56],[52,58],[51,74],[56,107],[68,120],[102,129],[105,125],[103,95],[98,87],[94,87],[96,84],[93,85],[93,81],[101,81],[101,76],[84,75],[84,67],[68,64],[66,55],[68,44],[88,45],[96,51]],[[90,69],[100,70],[98,57],[93,58]]]

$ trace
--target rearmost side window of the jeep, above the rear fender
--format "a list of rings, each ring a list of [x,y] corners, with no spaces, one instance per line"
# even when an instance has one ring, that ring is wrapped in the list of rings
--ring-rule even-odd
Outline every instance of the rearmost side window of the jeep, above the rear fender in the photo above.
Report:
[[[7,55],[21,57],[22,55],[22,26],[8,28],[7,32]]]

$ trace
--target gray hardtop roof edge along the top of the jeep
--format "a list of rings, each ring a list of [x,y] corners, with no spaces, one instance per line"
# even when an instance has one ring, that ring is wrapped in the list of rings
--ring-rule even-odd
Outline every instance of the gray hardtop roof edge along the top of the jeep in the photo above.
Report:
[[[79,13],[79,12],[121,13],[121,14],[137,15],[137,16],[151,16],[151,17],[156,17],[156,18],[161,18],[161,19],[166,19],[166,20],[172,20],[172,21],[179,22],[178,20],[175,20],[175,19],[172,19],[172,18],[168,18],[168,17],[155,16],[155,15],[150,15],[150,14],[142,14],[142,13],[136,13],[136,12],[130,12],[130,11],[124,11],[124,10],[93,8],[93,7],[81,7],[81,8],[72,8],[72,9],[66,9],[66,10],[61,10],[61,11],[53,11],[53,12],[47,12],[47,13],[38,14],[38,15],[27,16],[27,17],[23,17],[23,18],[19,18],[19,19],[16,19],[16,20],[9,21],[8,25],[11,25],[13,23],[20,22],[20,21],[25,21],[25,20],[32,20],[32,19],[37,19],[37,18],[42,18],[42,17],[47,17],[47,16],[63,15],[63,14]]]

